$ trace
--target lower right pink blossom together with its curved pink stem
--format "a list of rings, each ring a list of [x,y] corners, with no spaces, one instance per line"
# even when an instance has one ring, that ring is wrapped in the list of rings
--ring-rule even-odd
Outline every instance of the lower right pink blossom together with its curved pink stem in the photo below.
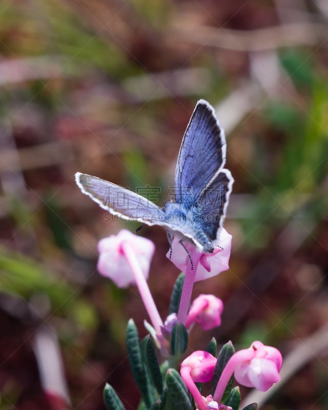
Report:
[[[239,350],[229,359],[216,386],[215,401],[221,401],[233,373],[238,383],[256,387],[262,392],[267,391],[273,383],[280,380],[281,365],[282,356],[279,350],[259,341],[253,342],[250,348]]]

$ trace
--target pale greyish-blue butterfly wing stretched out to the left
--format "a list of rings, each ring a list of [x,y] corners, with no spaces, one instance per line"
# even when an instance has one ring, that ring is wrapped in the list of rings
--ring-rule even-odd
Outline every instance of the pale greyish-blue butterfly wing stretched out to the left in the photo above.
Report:
[[[165,213],[143,196],[115,183],[80,172],[75,174],[75,181],[84,194],[113,215],[148,225],[166,225]]]

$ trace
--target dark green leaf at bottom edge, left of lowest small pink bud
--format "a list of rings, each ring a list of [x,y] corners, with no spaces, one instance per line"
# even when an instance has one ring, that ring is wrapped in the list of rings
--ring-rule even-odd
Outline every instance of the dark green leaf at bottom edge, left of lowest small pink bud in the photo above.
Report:
[[[171,409],[191,410],[193,408],[188,389],[174,368],[169,368],[167,371],[166,385],[168,386],[168,395],[172,399]]]

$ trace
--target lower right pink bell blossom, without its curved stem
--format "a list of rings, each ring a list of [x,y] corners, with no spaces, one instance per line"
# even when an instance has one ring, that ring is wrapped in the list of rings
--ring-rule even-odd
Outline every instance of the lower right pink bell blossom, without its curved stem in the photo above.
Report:
[[[275,347],[265,346],[259,341],[253,342],[247,350],[253,351],[254,357],[236,366],[235,379],[243,386],[256,387],[265,392],[280,380],[281,354]]]

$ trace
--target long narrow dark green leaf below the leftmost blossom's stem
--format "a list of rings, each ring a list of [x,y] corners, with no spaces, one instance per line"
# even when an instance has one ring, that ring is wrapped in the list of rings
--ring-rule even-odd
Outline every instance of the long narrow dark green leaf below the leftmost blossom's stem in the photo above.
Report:
[[[156,400],[155,392],[150,384],[147,368],[142,360],[137,327],[132,319],[128,321],[126,344],[133,378],[140,390],[147,408]]]

